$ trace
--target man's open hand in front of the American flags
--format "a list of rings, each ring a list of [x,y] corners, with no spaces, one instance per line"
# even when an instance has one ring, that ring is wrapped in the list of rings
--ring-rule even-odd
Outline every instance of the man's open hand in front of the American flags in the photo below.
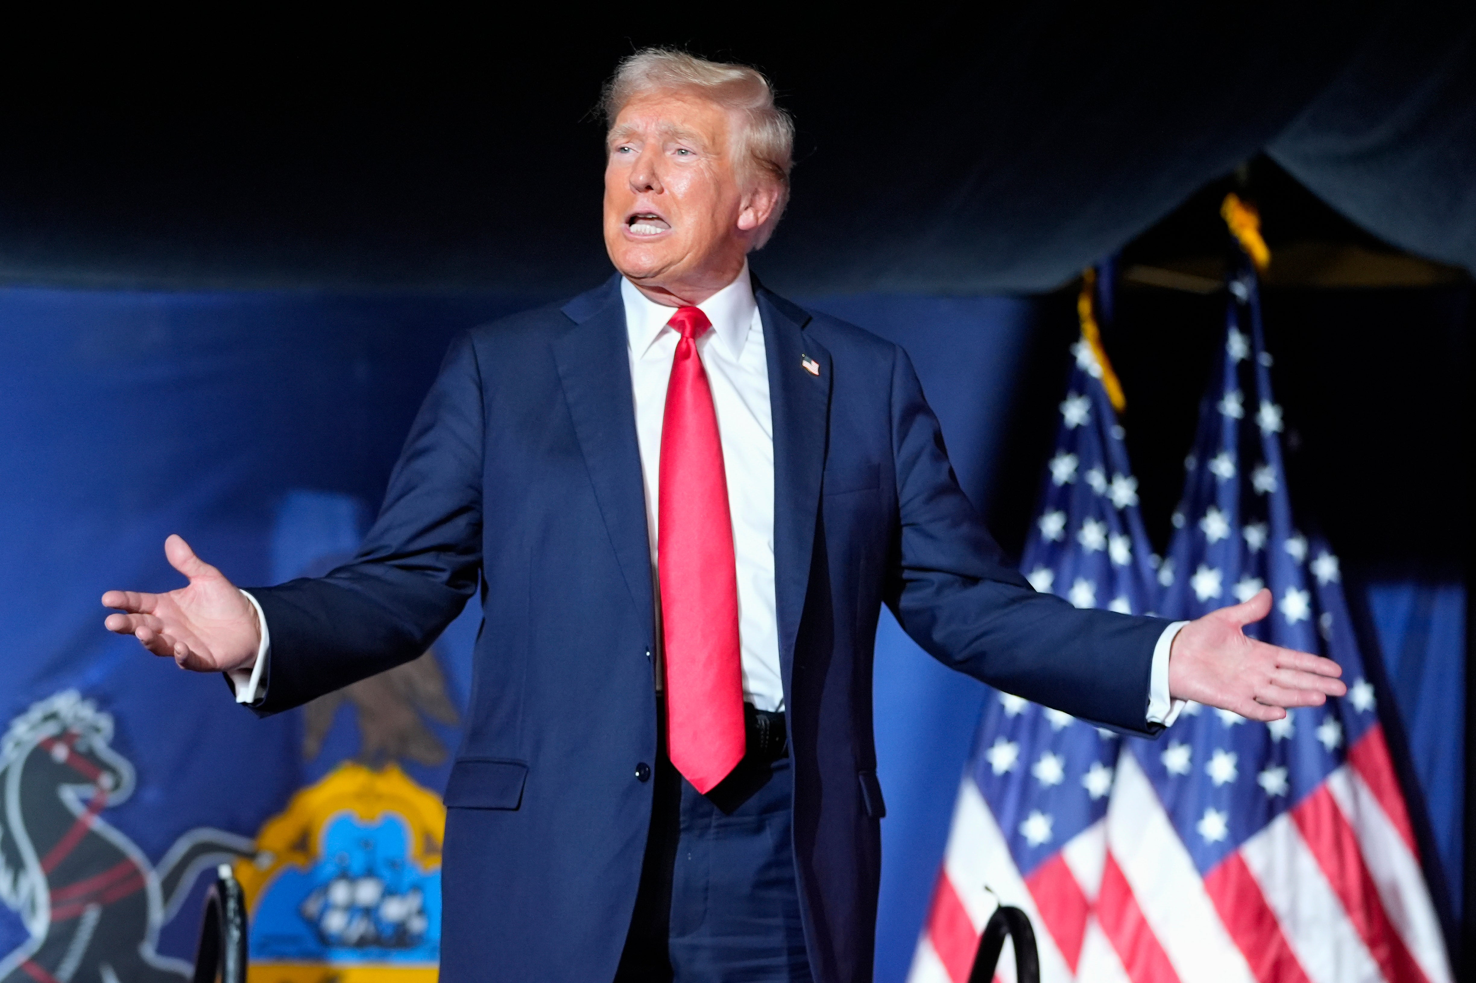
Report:
[[[1333,660],[1246,638],[1241,629],[1269,613],[1271,592],[1262,589],[1185,624],[1169,649],[1169,695],[1280,720],[1287,707],[1317,707],[1348,692]]]

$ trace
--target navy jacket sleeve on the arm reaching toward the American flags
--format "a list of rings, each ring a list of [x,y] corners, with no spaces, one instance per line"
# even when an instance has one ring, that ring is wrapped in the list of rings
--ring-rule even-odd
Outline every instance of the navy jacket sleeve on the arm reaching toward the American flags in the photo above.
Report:
[[[1036,593],[958,487],[937,419],[896,351],[893,453],[900,528],[887,605],[918,645],[976,679],[1094,723],[1147,723],[1153,648],[1169,621],[1082,611]]]

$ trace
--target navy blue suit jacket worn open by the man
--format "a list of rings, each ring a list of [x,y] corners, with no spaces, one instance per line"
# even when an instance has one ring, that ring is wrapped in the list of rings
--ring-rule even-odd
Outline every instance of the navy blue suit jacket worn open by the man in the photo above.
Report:
[[[902,348],[763,288],[757,301],[806,945],[818,983],[869,980],[881,605],[948,666],[1139,734],[1166,621],[1032,590],[959,490]],[[657,754],[618,277],[452,345],[354,562],[254,592],[272,627],[261,711],[419,655],[477,590],[484,623],[446,788],[441,979],[608,980],[651,818],[636,765]]]

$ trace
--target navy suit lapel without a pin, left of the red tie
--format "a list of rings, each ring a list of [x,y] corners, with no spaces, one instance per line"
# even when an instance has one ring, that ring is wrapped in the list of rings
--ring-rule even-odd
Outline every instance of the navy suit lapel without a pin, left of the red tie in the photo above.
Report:
[[[564,313],[574,322],[554,342],[564,399],[630,599],[651,617],[651,540],[620,277],[576,297]]]

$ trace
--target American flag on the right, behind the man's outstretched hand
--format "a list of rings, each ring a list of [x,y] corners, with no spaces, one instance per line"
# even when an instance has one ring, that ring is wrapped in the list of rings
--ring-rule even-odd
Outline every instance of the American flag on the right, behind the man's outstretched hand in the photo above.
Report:
[[[1297,531],[1255,272],[1230,283],[1163,564],[1163,611],[1191,618],[1272,592],[1247,635],[1328,655],[1348,697],[1256,723],[1197,706],[1128,741],[1107,815],[1125,887],[1101,911],[1131,980],[1451,979],[1445,945],[1348,608],[1337,558]]]

